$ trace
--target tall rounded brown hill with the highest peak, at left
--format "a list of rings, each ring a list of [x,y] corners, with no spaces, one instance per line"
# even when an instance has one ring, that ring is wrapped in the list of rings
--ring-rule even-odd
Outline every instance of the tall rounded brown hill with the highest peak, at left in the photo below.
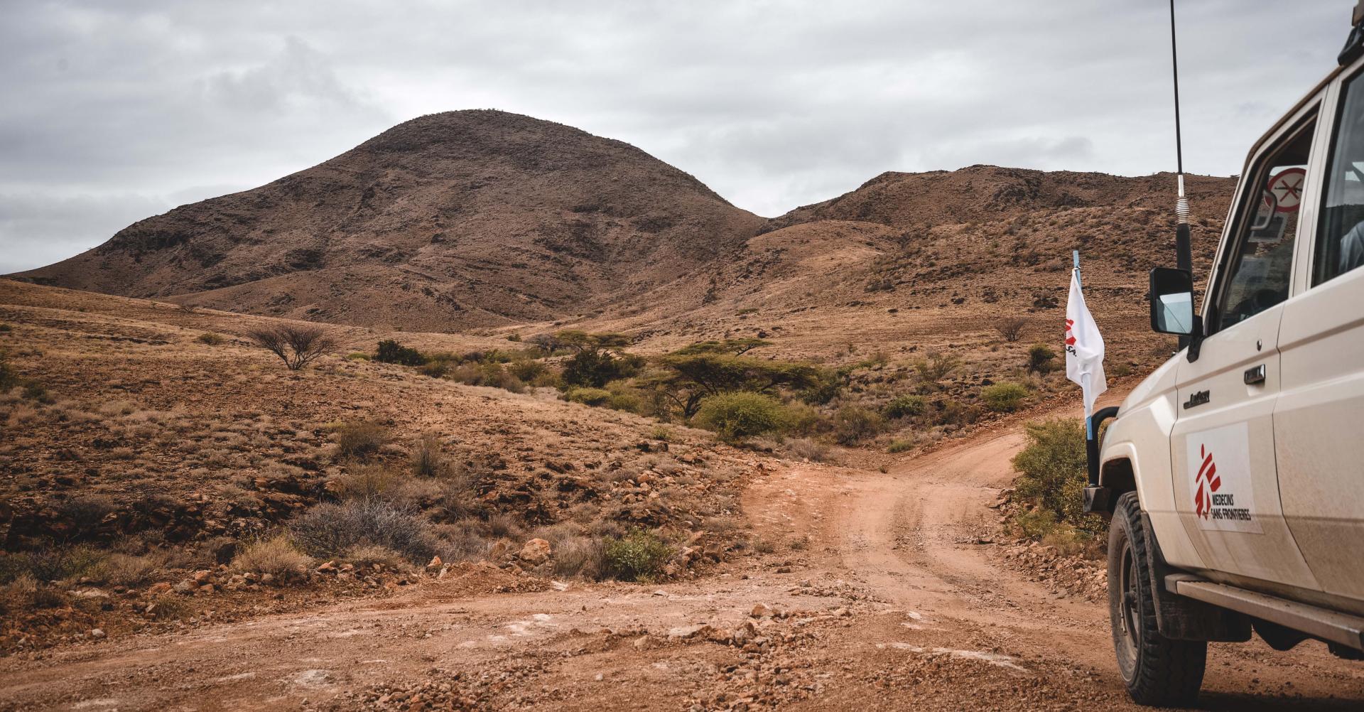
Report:
[[[573,316],[694,270],[762,220],[619,140],[464,110],[139,221],[19,277],[310,321],[454,330]]]

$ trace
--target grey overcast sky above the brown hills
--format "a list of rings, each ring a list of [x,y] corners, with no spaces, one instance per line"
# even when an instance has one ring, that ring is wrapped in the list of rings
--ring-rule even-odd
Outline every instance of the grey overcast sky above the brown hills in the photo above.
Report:
[[[1335,64],[1353,0],[1178,0],[1185,169]],[[883,170],[1174,164],[1162,0],[0,0],[0,273],[423,113],[630,142],[777,216]]]

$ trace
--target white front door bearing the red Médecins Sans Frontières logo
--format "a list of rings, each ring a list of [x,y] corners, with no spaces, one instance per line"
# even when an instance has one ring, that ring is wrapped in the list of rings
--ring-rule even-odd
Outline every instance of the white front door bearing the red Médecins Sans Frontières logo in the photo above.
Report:
[[[1318,104],[1248,164],[1204,299],[1206,338],[1183,360],[1170,458],[1174,506],[1204,565],[1289,585],[1315,582],[1278,496],[1278,333],[1292,292]]]

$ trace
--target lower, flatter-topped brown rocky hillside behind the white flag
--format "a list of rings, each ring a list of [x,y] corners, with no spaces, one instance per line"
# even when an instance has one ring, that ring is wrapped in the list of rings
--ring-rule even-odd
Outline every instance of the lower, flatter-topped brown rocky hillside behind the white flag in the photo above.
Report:
[[[1234,179],[1188,176],[1194,267],[1217,248]],[[582,327],[634,331],[672,348],[724,336],[775,338],[776,353],[951,351],[1009,363],[1052,342],[1079,250],[1109,353],[1142,370],[1168,357],[1147,327],[1147,271],[1174,262],[1174,176],[1121,177],[970,166],[885,173],[769,220],[758,235],[645,299]],[[998,345],[997,322],[1023,318]]]

